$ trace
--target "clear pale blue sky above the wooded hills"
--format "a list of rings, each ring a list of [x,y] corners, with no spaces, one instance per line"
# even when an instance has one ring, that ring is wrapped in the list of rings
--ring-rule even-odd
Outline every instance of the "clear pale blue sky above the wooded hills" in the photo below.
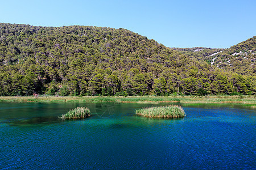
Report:
[[[255,7],[255,0],[6,0],[0,23],[126,28],[169,47],[229,48],[256,36]]]

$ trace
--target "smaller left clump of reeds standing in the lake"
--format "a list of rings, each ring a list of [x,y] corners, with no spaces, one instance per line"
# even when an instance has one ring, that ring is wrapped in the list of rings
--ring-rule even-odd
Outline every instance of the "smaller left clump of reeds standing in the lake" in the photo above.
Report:
[[[86,107],[77,107],[73,110],[68,111],[66,114],[62,114],[62,119],[81,119],[90,117],[90,109]]]

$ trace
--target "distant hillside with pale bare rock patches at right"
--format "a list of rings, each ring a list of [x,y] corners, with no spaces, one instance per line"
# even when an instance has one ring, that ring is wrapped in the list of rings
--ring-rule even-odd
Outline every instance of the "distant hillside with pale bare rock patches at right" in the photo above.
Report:
[[[229,70],[242,75],[256,73],[256,36],[228,49],[212,48],[171,48],[180,53],[196,58],[198,61],[207,61],[210,65]]]

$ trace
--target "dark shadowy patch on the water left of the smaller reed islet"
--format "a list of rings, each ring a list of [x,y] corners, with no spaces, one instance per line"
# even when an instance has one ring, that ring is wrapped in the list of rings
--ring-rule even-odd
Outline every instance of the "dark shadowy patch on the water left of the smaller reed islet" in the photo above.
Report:
[[[63,122],[59,117],[31,117],[31,118],[19,118],[19,119],[5,119],[1,123],[5,123],[9,126],[37,126],[37,125],[50,125]]]

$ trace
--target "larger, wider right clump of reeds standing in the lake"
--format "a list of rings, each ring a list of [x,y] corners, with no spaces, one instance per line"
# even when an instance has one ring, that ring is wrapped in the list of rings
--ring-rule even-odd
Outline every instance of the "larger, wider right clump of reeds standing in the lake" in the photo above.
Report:
[[[138,109],[136,114],[151,118],[177,118],[185,116],[183,108],[177,105],[142,108]]]

